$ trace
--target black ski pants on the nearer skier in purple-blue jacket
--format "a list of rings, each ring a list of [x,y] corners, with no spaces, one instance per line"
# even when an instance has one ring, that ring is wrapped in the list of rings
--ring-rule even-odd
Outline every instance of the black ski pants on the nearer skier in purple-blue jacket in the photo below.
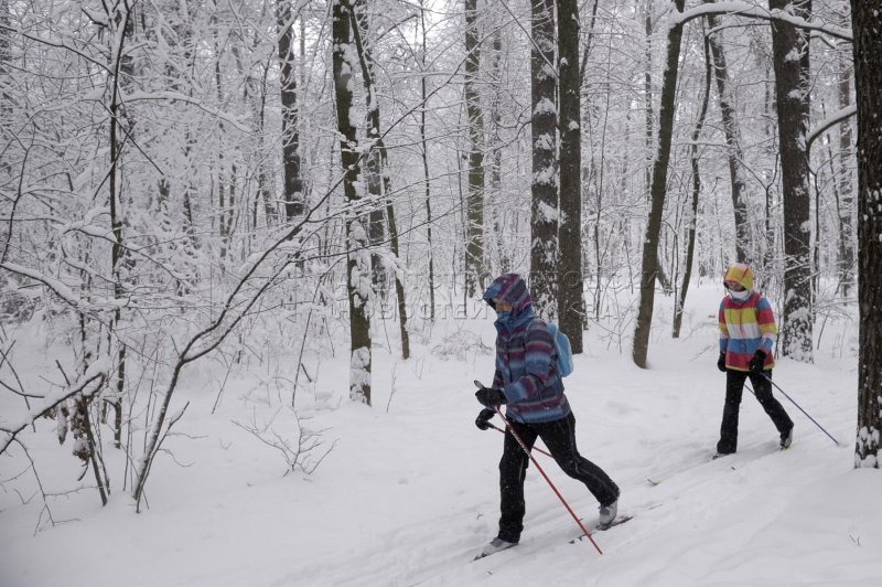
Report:
[[[619,499],[619,485],[603,469],[579,455],[576,448],[576,417],[570,413],[559,420],[544,424],[523,424],[510,421],[515,433],[528,448],[536,438],[541,438],[548,451],[564,473],[585,484],[592,495],[602,504],[609,505]],[[527,474],[529,457],[506,428],[503,458],[499,461],[501,510],[499,537],[507,542],[519,542],[524,530],[524,478]]]

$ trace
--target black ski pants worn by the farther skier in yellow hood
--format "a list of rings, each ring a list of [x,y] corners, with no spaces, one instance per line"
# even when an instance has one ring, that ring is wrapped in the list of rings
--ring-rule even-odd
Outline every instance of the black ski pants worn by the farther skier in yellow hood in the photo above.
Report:
[[[772,371],[764,371],[763,374],[760,374],[728,369],[725,371],[725,405],[723,406],[723,421],[720,425],[720,441],[717,442],[717,452],[728,455],[738,450],[738,413],[741,408],[741,395],[747,377],[751,380],[756,399],[775,423],[778,434],[787,434],[793,428],[793,420],[772,395]]]

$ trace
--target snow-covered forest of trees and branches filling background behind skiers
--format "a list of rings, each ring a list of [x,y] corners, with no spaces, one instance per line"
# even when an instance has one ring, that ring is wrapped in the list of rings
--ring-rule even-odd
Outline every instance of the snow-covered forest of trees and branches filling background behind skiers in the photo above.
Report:
[[[380,409],[372,351],[477,352],[433,324],[507,271],[574,353],[604,329],[652,369],[654,307],[676,339],[690,285],[744,262],[781,356],[859,322],[854,463],[878,468],[881,10],[0,0],[0,457],[55,435],[141,510],[191,369],[291,365],[295,409],[345,357]],[[29,332],[51,351],[25,373]],[[292,469],[303,430],[276,444]]]

